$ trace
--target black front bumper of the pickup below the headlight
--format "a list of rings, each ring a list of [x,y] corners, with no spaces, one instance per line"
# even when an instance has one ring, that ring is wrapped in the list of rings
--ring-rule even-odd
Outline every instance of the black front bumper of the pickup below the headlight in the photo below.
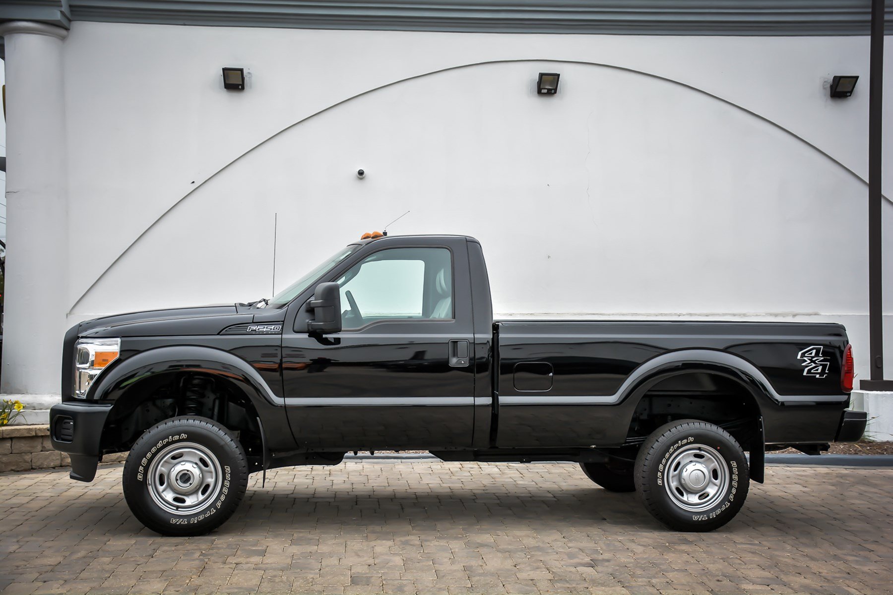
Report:
[[[71,456],[71,479],[92,482],[102,459],[101,440],[111,405],[68,401],[50,408],[53,448]]]

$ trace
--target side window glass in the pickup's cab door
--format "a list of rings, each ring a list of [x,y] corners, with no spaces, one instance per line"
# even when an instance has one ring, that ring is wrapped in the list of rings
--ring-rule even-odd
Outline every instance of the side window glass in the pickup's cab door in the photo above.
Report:
[[[345,330],[379,320],[453,318],[453,260],[446,248],[389,248],[338,279]]]

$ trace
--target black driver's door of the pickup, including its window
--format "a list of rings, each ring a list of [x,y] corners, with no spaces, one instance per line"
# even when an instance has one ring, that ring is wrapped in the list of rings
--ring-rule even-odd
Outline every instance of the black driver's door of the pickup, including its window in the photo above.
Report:
[[[464,238],[383,238],[333,271],[342,330],[286,320],[282,375],[298,444],[326,450],[472,443],[472,306]],[[292,313],[289,313],[289,317]]]

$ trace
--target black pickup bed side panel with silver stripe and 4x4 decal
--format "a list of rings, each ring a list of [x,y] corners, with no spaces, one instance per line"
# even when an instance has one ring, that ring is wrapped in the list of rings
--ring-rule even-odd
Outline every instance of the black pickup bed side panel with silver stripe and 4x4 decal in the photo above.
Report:
[[[692,372],[747,388],[766,442],[830,442],[849,402],[846,344],[833,324],[502,322],[497,446],[618,446],[647,389]],[[800,355],[813,347],[823,374],[804,373]]]

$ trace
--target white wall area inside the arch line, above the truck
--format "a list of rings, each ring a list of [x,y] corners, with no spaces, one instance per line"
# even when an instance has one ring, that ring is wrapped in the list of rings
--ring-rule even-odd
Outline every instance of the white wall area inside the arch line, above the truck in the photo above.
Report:
[[[538,70],[558,69],[559,94],[536,95]],[[481,240],[497,311],[855,311],[864,248],[844,239],[864,228],[863,199],[838,161],[693,87],[605,64],[483,62],[355,95],[248,149],[70,316],[257,299],[274,213],[281,287],[407,210],[392,233]]]

